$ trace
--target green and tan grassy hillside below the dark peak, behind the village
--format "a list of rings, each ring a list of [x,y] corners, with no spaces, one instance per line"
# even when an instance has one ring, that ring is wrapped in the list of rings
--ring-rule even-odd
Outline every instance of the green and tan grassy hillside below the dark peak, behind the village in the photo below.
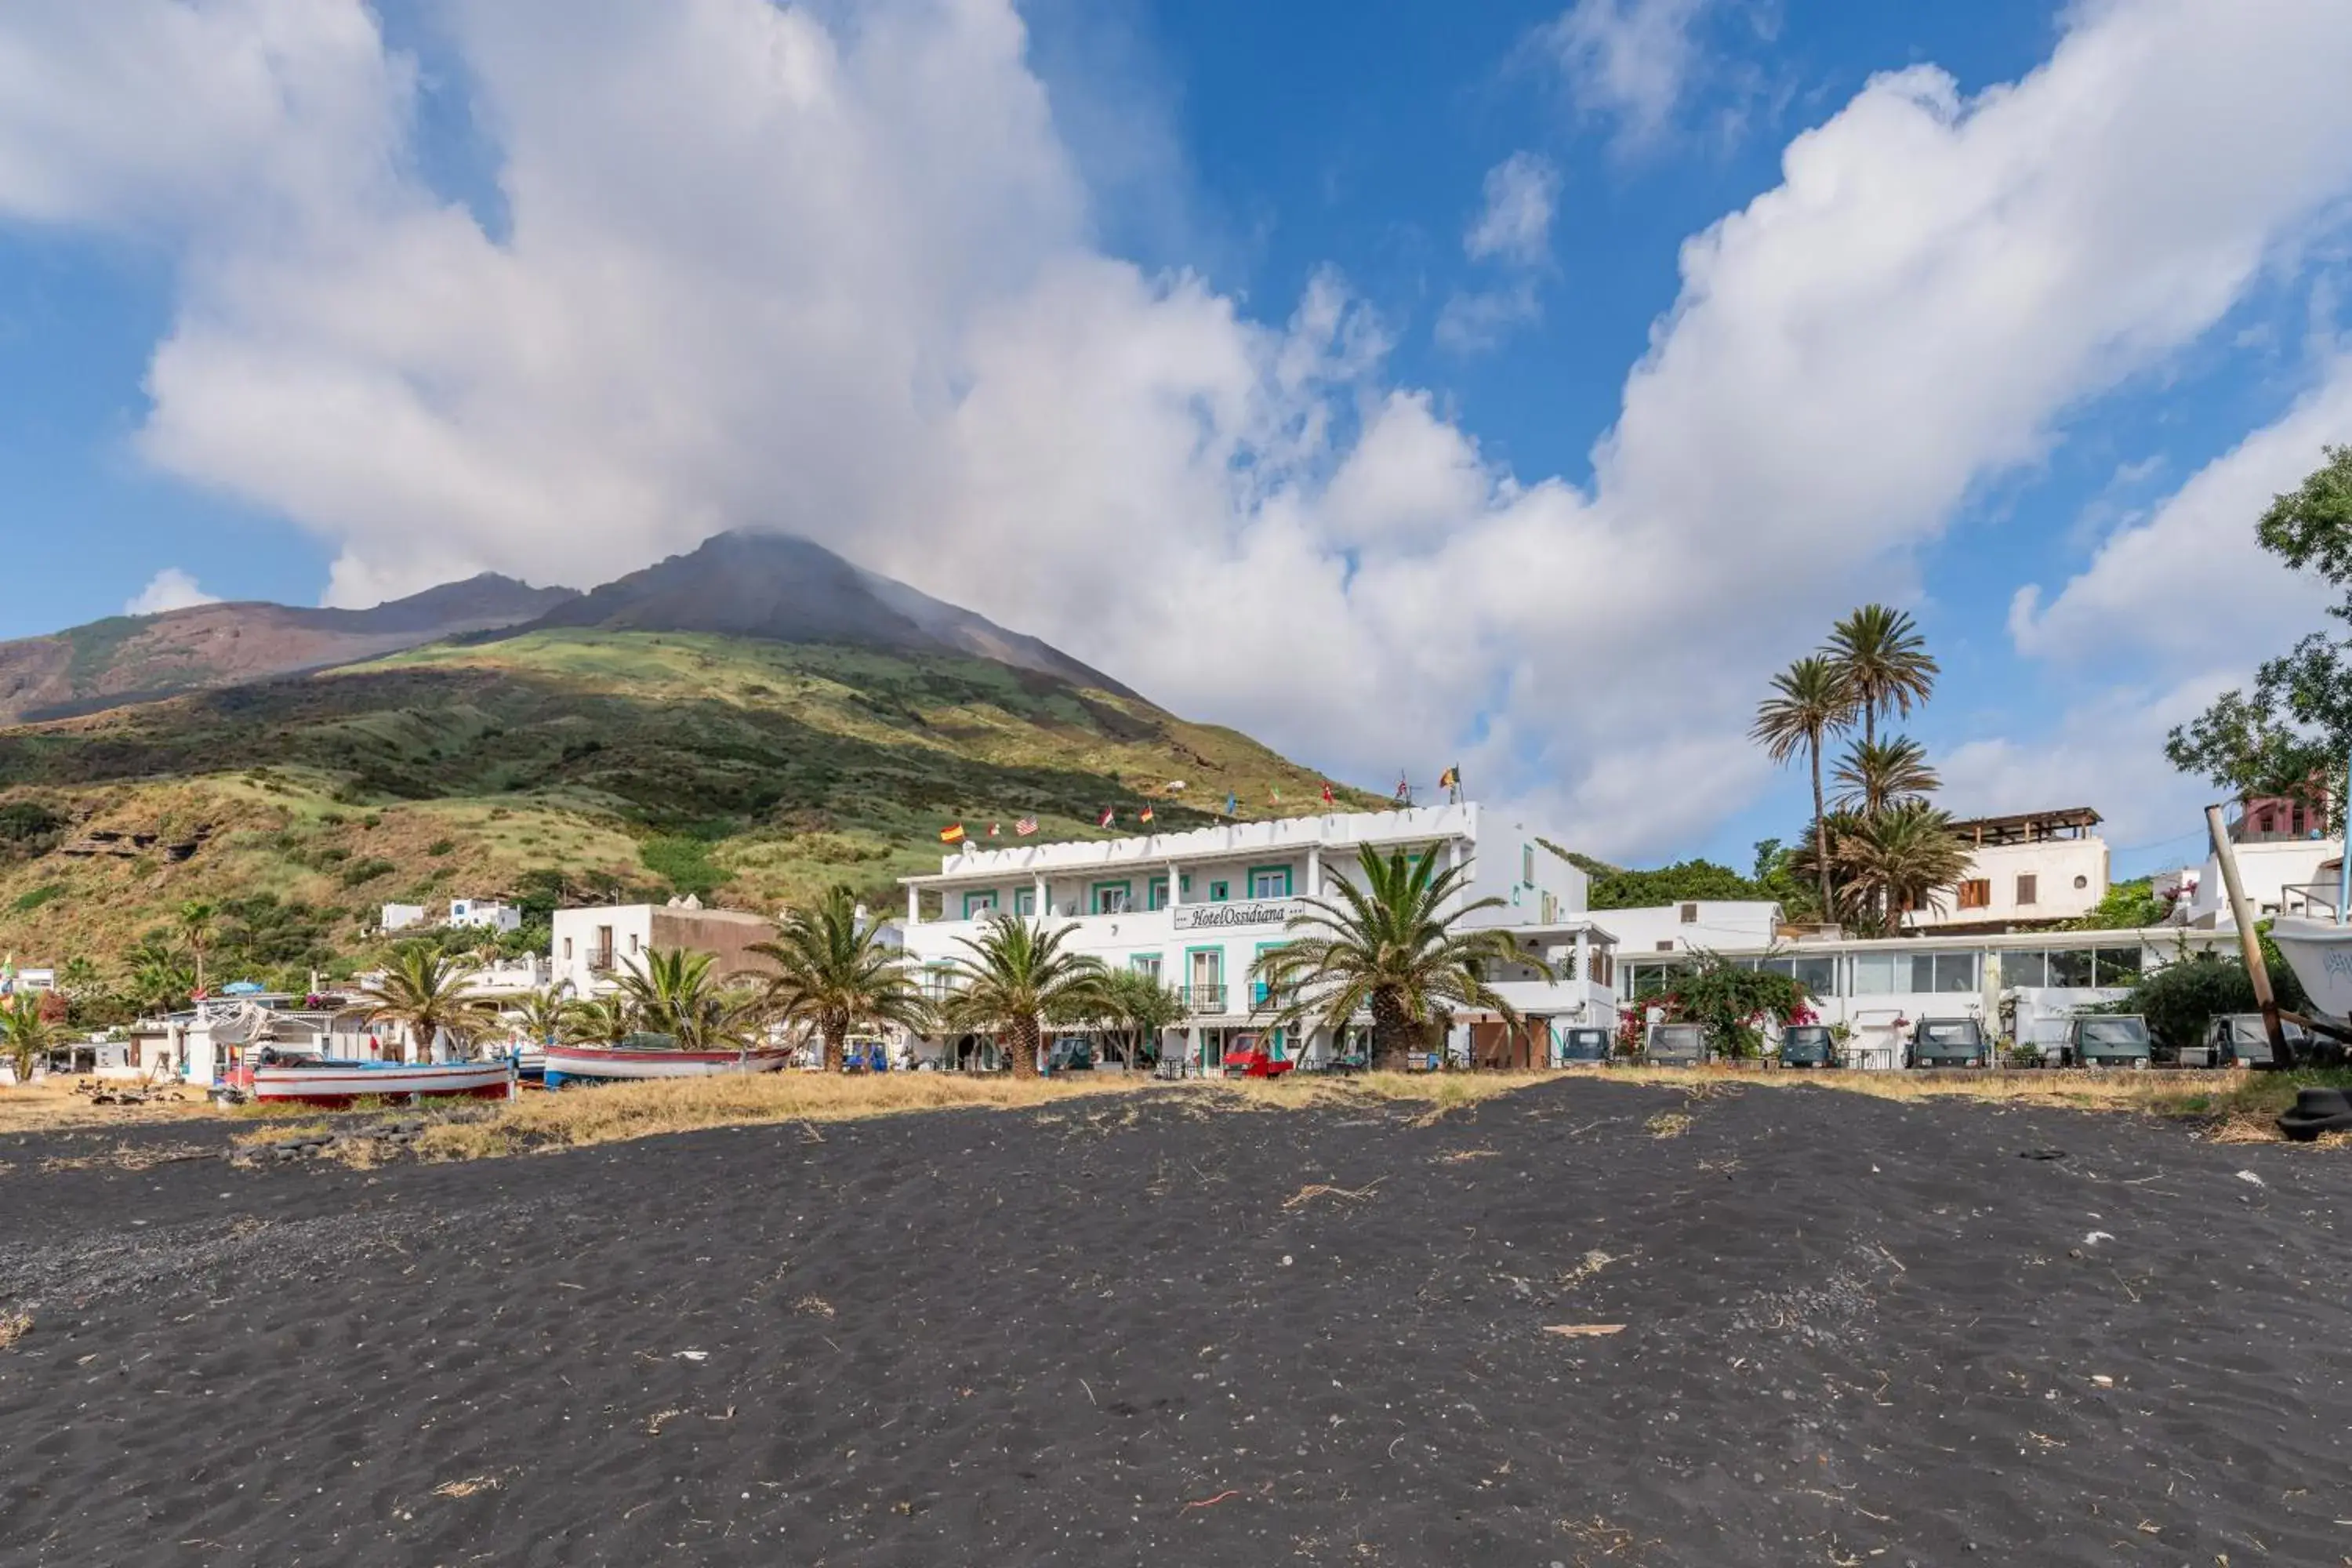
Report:
[[[543,630],[0,731],[0,950],[113,964],[188,898],[233,900],[280,966],[353,957],[386,900],[774,910],[844,879],[894,907],[950,820],[1089,837],[1150,799],[1181,830],[1228,792],[1268,816],[1319,788],[1235,731],[983,658]]]

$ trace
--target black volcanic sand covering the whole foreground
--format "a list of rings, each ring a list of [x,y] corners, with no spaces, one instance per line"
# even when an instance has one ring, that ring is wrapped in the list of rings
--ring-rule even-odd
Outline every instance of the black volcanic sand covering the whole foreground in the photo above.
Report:
[[[113,1143],[0,1143],[0,1563],[2352,1561],[2328,1150],[1606,1081]]]

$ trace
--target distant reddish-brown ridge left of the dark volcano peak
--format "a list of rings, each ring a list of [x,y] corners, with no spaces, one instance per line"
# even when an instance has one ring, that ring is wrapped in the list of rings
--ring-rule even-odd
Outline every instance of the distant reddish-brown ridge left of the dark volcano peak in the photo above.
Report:
[[[374,609],[198,604],[0,642],[0,724],[376,658],[543,616],[569,588],[482,574]]]

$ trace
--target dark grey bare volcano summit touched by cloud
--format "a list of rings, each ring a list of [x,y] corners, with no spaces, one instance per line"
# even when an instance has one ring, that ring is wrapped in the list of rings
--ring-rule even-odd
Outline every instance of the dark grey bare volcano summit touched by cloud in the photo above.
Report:
[[[708,632],[894,654],[964,654],[1134,696],[1101,670],[790,534],[720,534],[517,630]]]

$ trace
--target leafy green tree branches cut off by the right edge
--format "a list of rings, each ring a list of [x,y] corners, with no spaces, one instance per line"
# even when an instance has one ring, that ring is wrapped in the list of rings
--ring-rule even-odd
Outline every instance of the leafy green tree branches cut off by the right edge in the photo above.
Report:
[[[2345,590],[2328,616],[2352,623],[2352,447],[2321,449],[2303,484],[2272,496],[2256,538],[2296,571]],[[2352,755],[2352,637],[2310,632],[2256,670],[2253,691],[2225,691],[2176,729],[2164,755],[2232,795],[2288,795],[2314,806],[2345,799]]]

